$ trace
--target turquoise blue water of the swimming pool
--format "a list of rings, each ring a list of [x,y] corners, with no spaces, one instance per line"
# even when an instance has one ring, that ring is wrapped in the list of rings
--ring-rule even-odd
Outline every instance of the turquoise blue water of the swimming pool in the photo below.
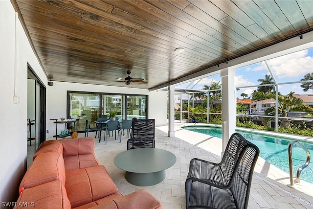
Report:
[[[222,128],[209,127],[209,126],[187,126],[183,129],[195,131],[198,133],[218,137],[222,139]],[[289,174],[289,162],[288,162],[288,145],[293,139],[282,138],[277,136],[270,136],[265,134],[251,133],[236,130],[245,137],[245,139],[257,145],[260,149],[260,157],[275,165],[279,169]],[[299,141],[313,154],[313,143]],[[292,148],[292,162],[293,162],[293,175],[299,166],[303,165],[307,159],[306,152],[297,146],[293,145]],[[312,162],[301,172],[301,180],[313,184],[313,165]]]

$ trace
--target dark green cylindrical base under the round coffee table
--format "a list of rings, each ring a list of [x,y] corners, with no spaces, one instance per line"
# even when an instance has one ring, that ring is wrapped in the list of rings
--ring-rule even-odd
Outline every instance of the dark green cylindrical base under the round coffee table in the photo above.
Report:
[[[126,171],[125,179],[135,186],[152,186],[165,179],[165,170],[154,173],[132,173]]]

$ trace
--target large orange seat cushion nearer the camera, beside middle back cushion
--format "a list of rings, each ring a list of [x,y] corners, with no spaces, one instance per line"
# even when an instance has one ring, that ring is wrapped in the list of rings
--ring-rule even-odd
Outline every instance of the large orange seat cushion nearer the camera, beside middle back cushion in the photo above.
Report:
[[[67,170],[65,187],[72,208],[117,193],[117,187],[103,165]]]

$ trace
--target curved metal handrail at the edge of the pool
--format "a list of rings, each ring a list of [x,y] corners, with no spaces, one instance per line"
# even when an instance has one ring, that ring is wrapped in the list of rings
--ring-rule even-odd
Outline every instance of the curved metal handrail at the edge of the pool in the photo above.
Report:
[[[296,140],[293,140],[289,143],[288,146],[288,160],[289,160],[289,176],[290,176],[290,185],[293,186],[293,164],[292,164],[292,146],[297,143],[299,145],[299,147],[301,147],[302,149],[304,149],[304,151],[306,151],[307,153],[307,160],[306,162],[301,165],[298,170],[297,170],[297,174],[296,174],[296,179],[295,182],[300,184],[300,175],[301,175],[301,171],[302,169],[308,167],[308,165],[310,164],[310,160],[311,160],[311,154],[310,151],[303,146],[301,143],[299,143]]]

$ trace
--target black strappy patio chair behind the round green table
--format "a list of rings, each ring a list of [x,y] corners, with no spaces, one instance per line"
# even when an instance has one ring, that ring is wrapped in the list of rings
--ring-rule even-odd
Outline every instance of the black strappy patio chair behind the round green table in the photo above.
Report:
[[[135,119],[132,124],[132,137],[127,140],[127,150],[134,148],[155,148],[155,119]]]

